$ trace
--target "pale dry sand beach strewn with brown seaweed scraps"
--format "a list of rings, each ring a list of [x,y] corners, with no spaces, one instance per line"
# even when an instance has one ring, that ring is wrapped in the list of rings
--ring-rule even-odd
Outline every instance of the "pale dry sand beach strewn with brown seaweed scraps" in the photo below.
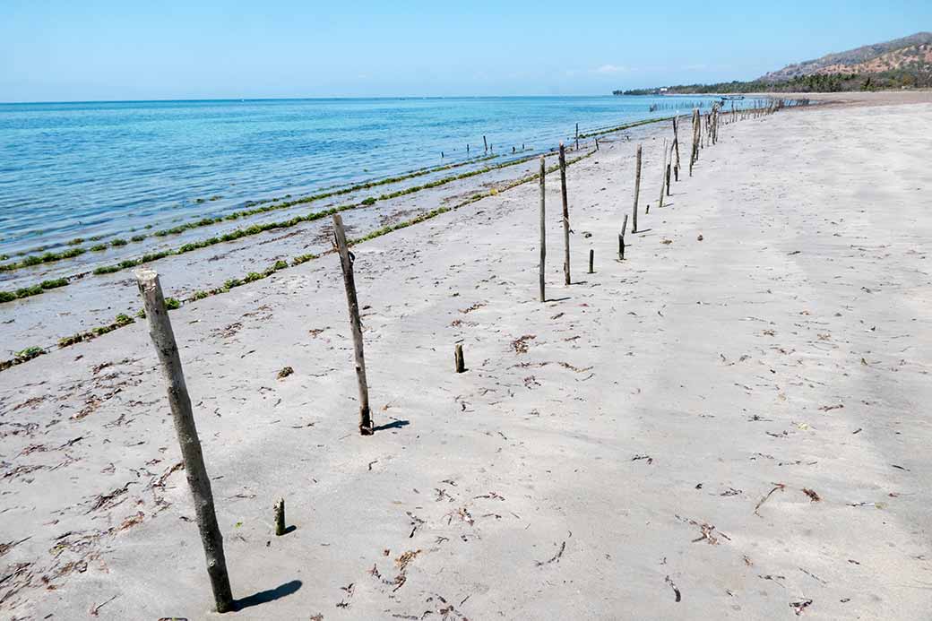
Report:
[[[734,123],[663,209],[647,140],[624,262],[606,143],[569,287],[548,176],[544,304],[534,185],[357,246],[371,437],[336,256],[173,312],[235,614],[145,326],[0,374],[0,616],[928,618],[924,135],[932,104]]]

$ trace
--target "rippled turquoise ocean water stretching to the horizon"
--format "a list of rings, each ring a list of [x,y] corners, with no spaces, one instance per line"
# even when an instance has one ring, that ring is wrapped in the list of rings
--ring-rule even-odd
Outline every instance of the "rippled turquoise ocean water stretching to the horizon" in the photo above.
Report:
[[[247,200],[498,161],[714,97],[483,97],[0,104],[0,255],[113,239]],[[750,104],[749,101],[738,102]],[[657,106],[651,111],[651,106]],[[728,104],[731,108],[731,104]],[[466,145],[470,145],[467,155]],[[441,153],[443,152],[443,157]]]

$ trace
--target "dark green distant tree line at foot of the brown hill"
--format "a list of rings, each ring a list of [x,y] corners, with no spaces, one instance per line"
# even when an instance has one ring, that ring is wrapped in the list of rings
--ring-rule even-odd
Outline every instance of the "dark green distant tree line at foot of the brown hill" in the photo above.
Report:
[[[681,84],[660,89],[613,90],[613,95],[659,95],[685,93],[746,93],[746,92],[843,92],[852,90],[932,88],[932,66],[893,69],[876,74],[813,74],[795,76],[779,82],[752,80],[719,82],[717,84]]]

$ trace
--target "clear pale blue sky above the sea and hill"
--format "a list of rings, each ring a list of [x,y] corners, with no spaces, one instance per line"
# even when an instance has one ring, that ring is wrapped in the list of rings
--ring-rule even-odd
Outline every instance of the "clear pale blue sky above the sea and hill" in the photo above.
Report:
[[[0,0],[0,102],[596,95],[932,30],[932,0]]]

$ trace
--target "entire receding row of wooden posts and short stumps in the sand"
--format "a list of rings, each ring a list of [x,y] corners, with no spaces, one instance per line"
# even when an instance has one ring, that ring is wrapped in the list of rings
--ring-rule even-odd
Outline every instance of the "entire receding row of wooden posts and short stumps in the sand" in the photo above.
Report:
[[[739,114],[771,114],[780,109],[783,104],[772,103],[765,110],[754,113],[741,112]],[[736,117],[732,118],[732,121]],[[714,145],[718,142],[718,128],[720,123],[719,105],[713,106],[706,115],[700,115],[698,109],[692,111],[692,154],[690,156],[690,176],[692,165],[698,161],[699,152],[705,145]],[[660,205],[663,206],[664,196],[670,196],[671,167],[675,181],[679,180],[679,120],[673,119],[673,141],[667,149],[664,144],[663,170],[661,176]],[[576,133],[577,148],[579,146],[579,126]],[[597,148],[597,142],[596,142]],[[569,199],[567,194],[567,160],[563,143],[559,147],[560,191],[563,206],[563,271],[564,280],[570,283],[569,274]],[[541,221],[541,264],[540,287],[541,302],[546,301],[546,279],[544,266],[546,261],[546,209],[545,209],[545,176],[546,167],[544,157],[541,156],[540,172],[540,221]],[[631,213],[632,233],[637,233],[637,200],[640,195],[641,181],[641,145],[637,145],[635,165],[635,195],[634,207]],[[649,213],[650,205],[645,213]],[[334,244],[340,257],[340,268],[343,271],[343,283],[346,288],[347,305],[349,310],[349,324],[353,339],[353,357],[356,368],[356,381],[359,389],[359,432],[362,435],[372,435],[375,431],[369,409],[369,390],[365,378],[365,356],[363,352],[363,327],[359,315],[359,301],[356,297],[356,283],[353,278],[354,256],[349,252],[346,232],[340,214],[334,214]],[[624,260],[624,233],[627,228],[628,215],[624,214],[622,230],[618,235],[618,258]],[[589,251],[589,272],[592,273],[595,252]],[[216,610],[225,613],[235,610],[236,602],[233,600],[229,576],[226,572],[226,557],[224,555],[223,535],[217,523],[216,511],[213,504],[211,481],[207,475],[203,454],[200,449],[197,425],[191,410],[191,399],[187,393],[185,374],[178,353],[178,345],[171,328],[168,310],[162,294],[158,273],[151,269],[140,269],[136,272],[139,291],[143,297],[145,316],[148,320],[149,335],[158,353],[159,367],[165,380],[171,417],[174,421],[175,434],[181,447],[182,461],[185,464],[185,476],[194,500],[195,514],[198,521],[201,544],[207,560],[207,573],[211,581],[213,600]],[[458,373],[466,370],[461,344],[457,344],[454,352],[454,365]],[[275,534],[283,535],[285,528],[284,500],[274,505]]]

